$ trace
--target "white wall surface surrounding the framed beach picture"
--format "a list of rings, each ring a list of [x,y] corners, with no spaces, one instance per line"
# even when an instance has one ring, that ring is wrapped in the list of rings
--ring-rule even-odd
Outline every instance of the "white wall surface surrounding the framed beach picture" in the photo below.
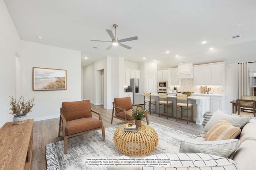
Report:
[[[62,102],[81,100],[81,51],[21,41],[22,92],[36,105],[28,118],[35,120],[59,117]],[[32,90],[32,67],[67,70],[67,90]]]

